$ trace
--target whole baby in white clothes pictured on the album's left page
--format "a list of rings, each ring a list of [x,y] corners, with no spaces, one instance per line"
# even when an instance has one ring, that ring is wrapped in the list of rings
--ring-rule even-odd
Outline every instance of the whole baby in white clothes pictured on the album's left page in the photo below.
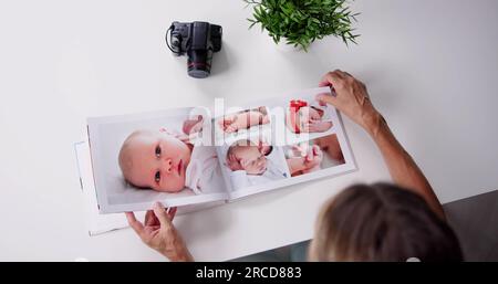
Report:
[[[137,189],[178,192],[186,187],[195,193],[214,192],[219,166],[212,146],[194,147],[193,135],[203,130],[203,116],[186,119],[183,133],[166,128],[134,130],[124,140],[118,164],[124,179]]]

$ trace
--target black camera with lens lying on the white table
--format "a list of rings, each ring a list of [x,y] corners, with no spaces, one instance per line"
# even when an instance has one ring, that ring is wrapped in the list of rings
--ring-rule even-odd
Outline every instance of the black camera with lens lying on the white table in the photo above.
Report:
[[[169,49],[175,55],[187,54],[188,75],[207,77],[211,71],[212,53],[221,50],[220,25],[208,22],[173,22],[169,28]],[[166,35],[166,42],[168,38]]]

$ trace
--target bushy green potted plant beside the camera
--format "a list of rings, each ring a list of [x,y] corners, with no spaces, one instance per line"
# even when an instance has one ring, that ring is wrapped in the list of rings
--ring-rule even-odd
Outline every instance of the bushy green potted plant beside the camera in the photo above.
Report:
[[[250,28],[261,25],[274,43],[287,44],[308,51],[310,44],[326,35],[356,43],[359,34],[351,27],[356,21],[346,0],[245,0],[253,7]]]

